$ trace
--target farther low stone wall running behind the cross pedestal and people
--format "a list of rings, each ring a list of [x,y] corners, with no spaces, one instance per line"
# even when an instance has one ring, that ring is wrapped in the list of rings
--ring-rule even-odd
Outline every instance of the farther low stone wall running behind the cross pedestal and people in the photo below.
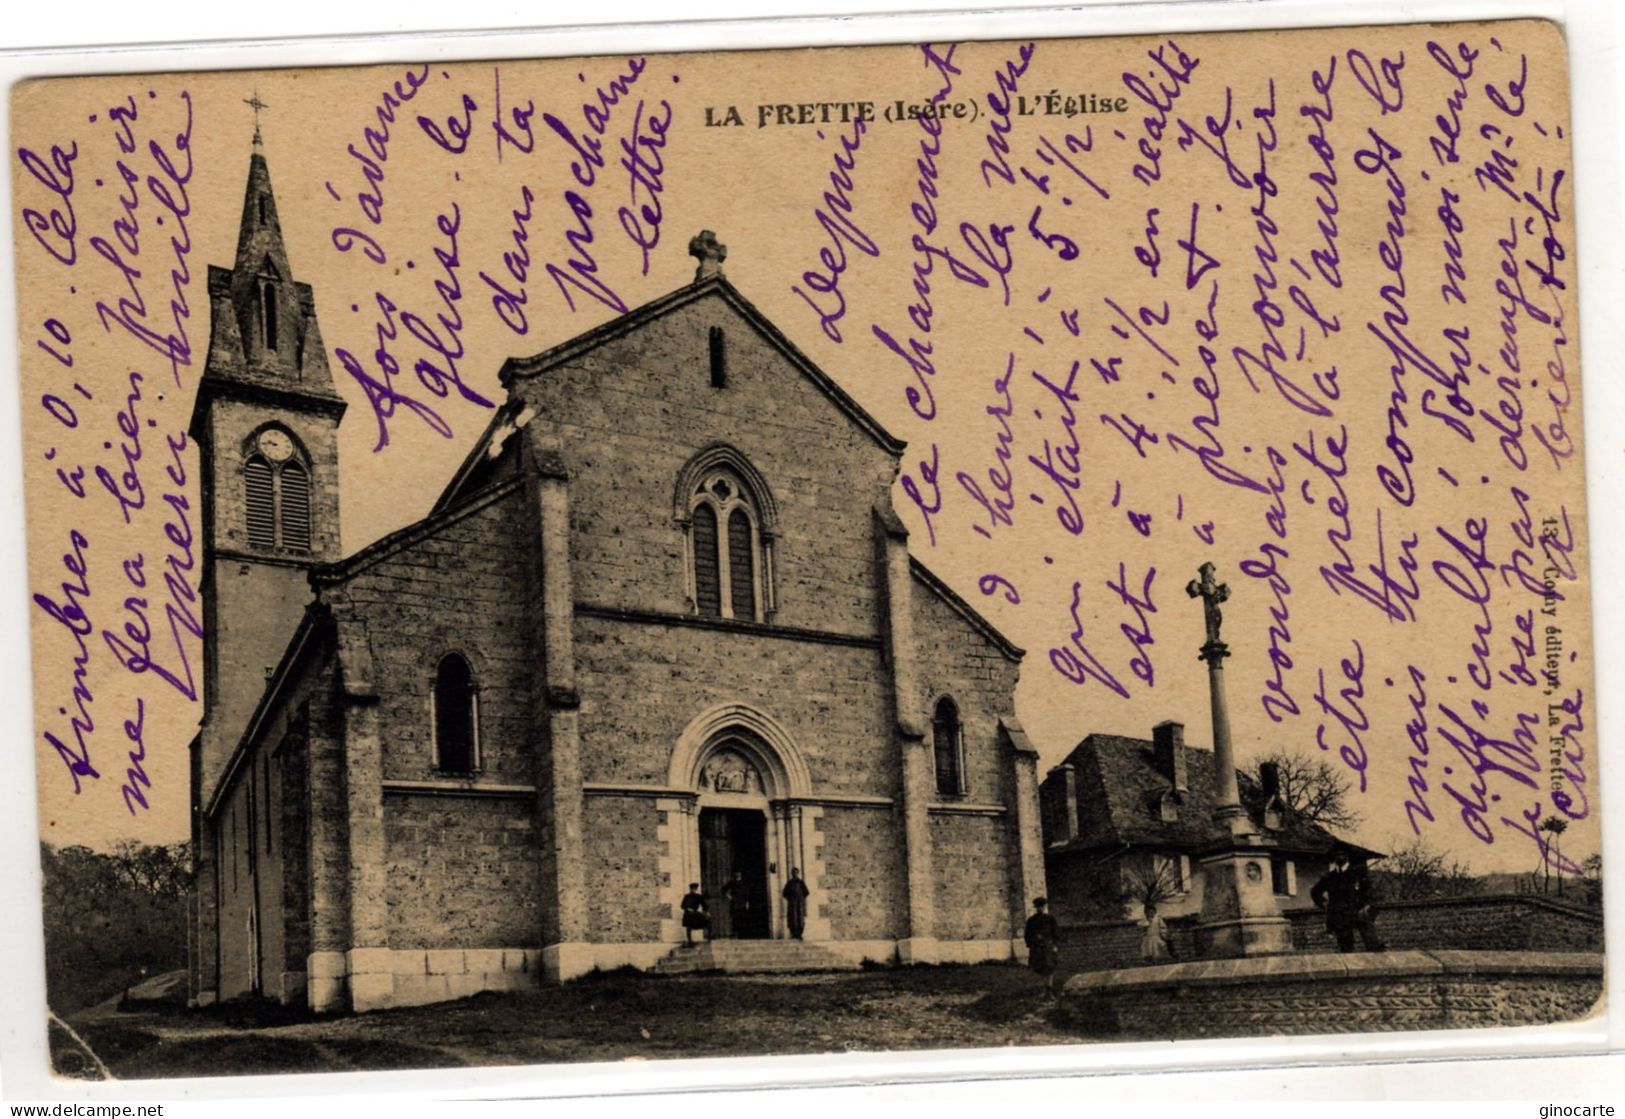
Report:
[[[1336,952],[1320,909],[1290,909],[1292,947]],[[1167,922],[1178,960],[1198,960],[1196,918]],[[1508,952],[1602,952],[1602,914],[1539,895],[1500,893],[1467,898],[1389,901],[1378,906],[1376,932],[1391,950],[1433,948]],[[1100,921],[1061,929],[1061,971],[1112,971],[1141,966],[1142,921]]]

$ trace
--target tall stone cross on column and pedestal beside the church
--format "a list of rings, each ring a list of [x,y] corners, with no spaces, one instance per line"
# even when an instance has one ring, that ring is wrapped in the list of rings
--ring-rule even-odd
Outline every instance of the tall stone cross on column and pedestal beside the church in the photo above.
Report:
[[[1185,588],[1202,599],[1207,640],[1198,655],[1207,661],[1207,693],[1214,721],[1214,845],[1201,856],[1202,918],[1198,944],[1209,957],[1271,955],[1292,950],[1292,924],[1280,916],[1269,871],[1271,840],[1259,833],[1242,807],[1235,778],[1235,749],[1230,745],[1230,711],[1224,697],[1224,643],[1219,606],[1230,588],[1214,581],[1214,565],[1198,568],[1201,578]]]

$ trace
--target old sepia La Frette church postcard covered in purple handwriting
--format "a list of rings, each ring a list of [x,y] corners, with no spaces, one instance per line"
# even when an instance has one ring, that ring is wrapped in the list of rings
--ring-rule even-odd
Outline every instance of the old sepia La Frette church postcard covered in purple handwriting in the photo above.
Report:
[[[1601,1013],[1562,28],[431,54],[11,89],[57,1075]]]

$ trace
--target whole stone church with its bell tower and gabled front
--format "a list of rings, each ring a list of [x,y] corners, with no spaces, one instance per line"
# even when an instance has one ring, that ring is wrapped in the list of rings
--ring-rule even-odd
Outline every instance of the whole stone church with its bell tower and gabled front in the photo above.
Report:
[[[344,404],[255,148],[192,421],[195,1002],[655,966],[691,882],[782,940],[791,867],[834,960],[1024,955],[1020,650],[910,557],[904,445],[694,250],[692,284],[510,361],[429,515],[343,555]]]

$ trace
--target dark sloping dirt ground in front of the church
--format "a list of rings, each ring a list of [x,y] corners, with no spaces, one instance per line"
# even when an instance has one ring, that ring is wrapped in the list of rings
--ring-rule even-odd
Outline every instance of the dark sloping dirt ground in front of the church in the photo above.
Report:
[[[315,1018],[280,1007],[117,1000],[52,1028],[63,1075],[206,1077],[886,1049],[1069,1044],[1011,965],[788,976],[593,974],[562,987]],[[94,1057],[84,1052],[94,1051]]]

